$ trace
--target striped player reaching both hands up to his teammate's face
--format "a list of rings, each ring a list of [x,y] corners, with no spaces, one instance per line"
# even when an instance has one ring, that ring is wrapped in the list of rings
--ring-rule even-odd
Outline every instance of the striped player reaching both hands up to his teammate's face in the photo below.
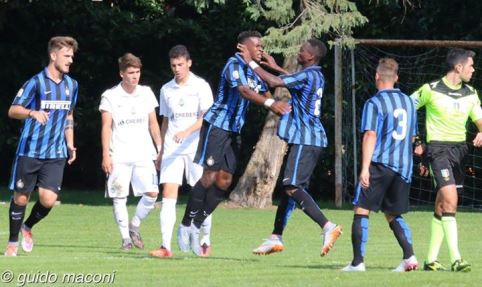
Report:
[[[330,222],[307,192],[310,177],[318,163],[323,149],[327,146],[326,133],[320,120],[321,99],[325,79],[318,65],[326,55],[325,44],[320,40],[310,39],[301,45],[297,61],[302,70],[288,74],[279,67],[274,58],[263,53],[265,64],[276,71],[280,77],[272,75],[252,61],[247,47],[239,45],[243,58],[251,69],[265,80],[270,87],[286,87],[290,94],[292,112],[281,117],[278,136],[289,144],[286,167],[283,176],[284,194],[276,211],[274,229],[271,236],[258,248],[255,254],[271,254],[283,251],[282,233],[292,207],[290,198],[301,207],[323,232],[321,256],[325,256],[342,233],[342,227]]]

